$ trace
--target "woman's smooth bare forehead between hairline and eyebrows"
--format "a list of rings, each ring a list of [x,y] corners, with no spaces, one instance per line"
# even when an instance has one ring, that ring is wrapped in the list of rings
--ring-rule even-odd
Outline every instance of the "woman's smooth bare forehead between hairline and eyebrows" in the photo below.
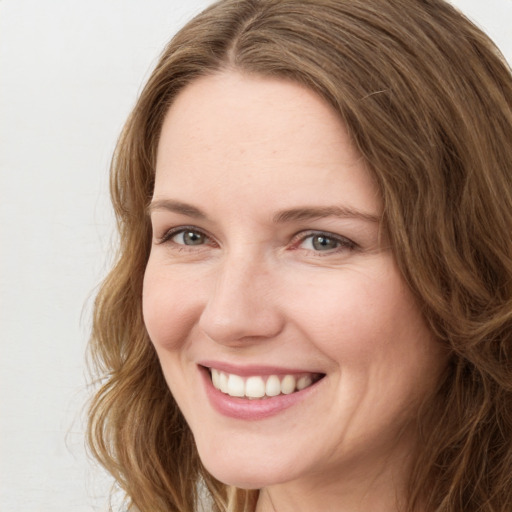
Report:
[[[338,114],[293,82],[226,72],[176,98],[158,146],[155,196],[286,192],[374,210],[375,184]],[[213,195],[212,195],[213,194]],[[260,197],[260,199],[262,199]],[[293,205],[281,205],[283,207]]]

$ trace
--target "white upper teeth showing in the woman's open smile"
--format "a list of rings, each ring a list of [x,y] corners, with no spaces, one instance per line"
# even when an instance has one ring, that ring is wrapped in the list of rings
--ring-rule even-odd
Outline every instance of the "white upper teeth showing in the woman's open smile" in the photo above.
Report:
[[[250,400],[291,395],[306,389],[325,377],[321,373],[286,375],[252,375],[241,377],[215,368],[208,368],[213,387],[221,393]]]

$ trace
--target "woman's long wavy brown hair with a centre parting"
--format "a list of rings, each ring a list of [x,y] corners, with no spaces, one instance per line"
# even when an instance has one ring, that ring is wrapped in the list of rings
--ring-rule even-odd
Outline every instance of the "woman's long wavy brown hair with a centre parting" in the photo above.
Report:
[[[134,509],[250,511],[203,469],[148,339],[142,279],[162,120],[226,68],[299,82],[339,113],[377,180],[398,265],[451,354],[418,413],[407,510],[512,509],[512,76],[442,0],[222,0],[170,42],[120,137],[120,247],[90,345],[105,381],[89,444]]]

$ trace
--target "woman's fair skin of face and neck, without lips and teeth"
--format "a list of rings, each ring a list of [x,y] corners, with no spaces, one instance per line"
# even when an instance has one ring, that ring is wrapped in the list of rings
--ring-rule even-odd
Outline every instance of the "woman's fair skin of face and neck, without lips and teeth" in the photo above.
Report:
[[[276,219],[293,209],[303,214]],[[165,118],[150,211],[144,319],[206,468],[262,489],[258,512],[397,510],[412,419],[445,358],[336,113],[282,80],[196,80]],[[212,407],[204,360],[325,377],[296,405],[247,421]]]

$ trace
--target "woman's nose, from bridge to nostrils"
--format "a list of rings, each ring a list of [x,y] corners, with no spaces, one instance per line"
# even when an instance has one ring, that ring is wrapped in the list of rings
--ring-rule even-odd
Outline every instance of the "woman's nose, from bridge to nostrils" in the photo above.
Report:
[[[217,343],[237,346],[277,336],[284,326],[279,283],[263,262],[226,258],[216,269],[199,327]]]

